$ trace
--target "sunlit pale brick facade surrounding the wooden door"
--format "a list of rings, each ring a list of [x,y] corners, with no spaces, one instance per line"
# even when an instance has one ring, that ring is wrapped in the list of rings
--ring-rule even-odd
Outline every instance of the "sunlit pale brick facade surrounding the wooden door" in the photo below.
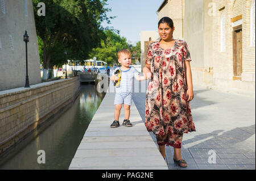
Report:
[[[216,17],[213,18],[213,71],[214,85],[255,91],[255,45],[250,46],[250,5],[251,1],[217,1]],[[225,9],[221,10],[223,7]],[[220,51],[220,21],[225,13],[226,50]],[[231,19],[242,15],[242,75],[241,81],[233,80],[233,27]]]

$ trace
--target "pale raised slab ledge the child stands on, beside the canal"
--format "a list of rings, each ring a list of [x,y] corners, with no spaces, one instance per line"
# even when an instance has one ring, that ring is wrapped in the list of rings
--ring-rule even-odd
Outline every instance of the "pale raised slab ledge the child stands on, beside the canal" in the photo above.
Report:
[[[110,83],[112,86],[112,83]],[[86,130],[72,159],[73,169],[161,169],[168,166],[148,133],[134,104],[130,121],[133,127],[122,125],[123,108],[118,128],[110,128],[114,121],[114,93],[107,92]]]

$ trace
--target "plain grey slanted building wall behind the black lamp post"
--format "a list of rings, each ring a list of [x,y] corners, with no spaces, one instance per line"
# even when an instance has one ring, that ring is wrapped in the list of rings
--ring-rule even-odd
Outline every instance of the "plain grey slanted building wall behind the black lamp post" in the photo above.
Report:
[[[40,60],[32,0],[0,1],[0,91],[25,86],[26,52],[23,35],[27,30],[28,78],[40,83]]]

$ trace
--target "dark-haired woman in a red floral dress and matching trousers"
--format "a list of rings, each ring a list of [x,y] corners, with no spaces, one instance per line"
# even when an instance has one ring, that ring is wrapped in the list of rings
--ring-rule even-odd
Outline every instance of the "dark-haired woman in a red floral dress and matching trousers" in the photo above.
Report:
[[[148,46],[143,72],[151,72],[146,93],[145,125],[156,135],[159,151],[165,158],[165,145],[174,147],[174,162],[187,167],[181,157],[183,133],[196,131],[189,101],[193,99],[190,53],[187,43],[174,40],[172,20],[158,22],[161,39]]]

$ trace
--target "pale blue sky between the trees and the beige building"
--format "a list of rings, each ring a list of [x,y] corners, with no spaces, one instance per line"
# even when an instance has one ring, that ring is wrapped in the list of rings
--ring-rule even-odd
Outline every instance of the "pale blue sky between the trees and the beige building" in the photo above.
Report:
[[[156,11],[163,0],[109,0],[108,8],[112,9],[107,16],[117,16],[111,24],[102,23],[103,27],[119,30],[127,42],[135,45],[141,41],[141,31],[154,31],[158,28]]]

